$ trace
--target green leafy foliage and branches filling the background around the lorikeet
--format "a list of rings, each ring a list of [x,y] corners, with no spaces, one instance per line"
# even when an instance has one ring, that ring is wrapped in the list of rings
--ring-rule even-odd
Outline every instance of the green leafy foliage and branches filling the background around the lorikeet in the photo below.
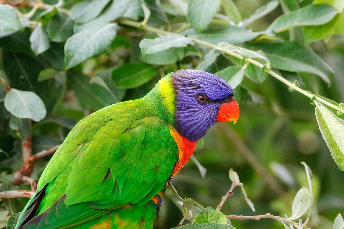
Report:
[[[141,98],[180,68],[228,80],[240,117],[197,143],[198,162],[172,179],[184,211],[168,190],[154,228],[174,227],[200,205],[215,209],[232,181],[239,185],[229,168],[256,210],[235,188],[221,208],[235,228],[302,228],[311,196],[305,228],[344,227],[337,217],[344,212],[344,106],[335,102],[344,101],[344,0],[0,2],[0,228],[32,195],[7,191],[34,190],[77,121]],[[299,189],[307,208],[296,217]],[[205,212],[214,213],[207,208],[195,221]],[[295,223],[231,216],[267,212]]]

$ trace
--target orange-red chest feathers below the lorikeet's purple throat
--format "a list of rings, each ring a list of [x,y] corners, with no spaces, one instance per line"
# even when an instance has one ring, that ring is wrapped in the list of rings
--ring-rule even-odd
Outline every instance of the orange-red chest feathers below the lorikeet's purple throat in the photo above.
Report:
[[[173,127],[170,126],[171,135],[178,146],[179,159],[174,165],[172,177],[178,173],[182,167],[189,161],[192,153],[195,150],[197,142],[191,142],[179,134]]]

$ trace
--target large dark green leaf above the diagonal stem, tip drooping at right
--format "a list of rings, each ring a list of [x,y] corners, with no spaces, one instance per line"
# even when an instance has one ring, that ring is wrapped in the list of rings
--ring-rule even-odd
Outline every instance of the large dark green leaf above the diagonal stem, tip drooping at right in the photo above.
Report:
[[[245,44],[250,50],[262,50],[273,68],[289,72],[307,72],[319,75],[330,84],[333,70],[309,47],[297,42],[250,43]]]

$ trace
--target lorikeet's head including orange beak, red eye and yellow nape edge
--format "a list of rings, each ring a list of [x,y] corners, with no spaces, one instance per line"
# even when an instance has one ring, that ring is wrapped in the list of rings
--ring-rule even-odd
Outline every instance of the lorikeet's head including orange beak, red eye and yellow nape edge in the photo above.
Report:
[[[232,87],[217,75],[178,70],[162,78],[161,83],[160,94],[173,100],[174,127],[189,141],[200,140],[216,121],[235,123],[239,117]],[[166,85],[171,85],[173,99]]]

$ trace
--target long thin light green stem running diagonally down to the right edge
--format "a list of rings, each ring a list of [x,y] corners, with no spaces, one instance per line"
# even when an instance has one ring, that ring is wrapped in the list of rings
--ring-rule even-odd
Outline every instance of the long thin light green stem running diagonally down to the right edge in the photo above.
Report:
[[[183,36],[183,35],[180,35],[178,33],[173,33],[173,32],[168,32],[168,31],[165,31],[165,30],[161,30],[161,29],[158,29],[158,28],[154,28],[152,26],[149,26],[149,25],[142,25],[141,23],[139,22],[136,22],[136,21],[131,21],[131,20],[119,20],[118,23],[120,24],[123,24],[123,25],[129,25],[129,26],[132,26],[132,27],[136,27],[136,28],[139,28],[139,29],[143,29],[143,30],[146,30],[146,31],[150,31],[150,32],[153,32],[153,33],[156,33],[156,34],[161,34],[161,35],[168,35],[168,34],[171,34],[171,35],[175,35],[175,36]],[[209,48],[216,48],[216,45],[215,44],[212,44],[212,43],[209,43],[209,42],[206,42],[206,41],[201,41],[201,40],[198,40],[198,39],[195,39],[195,38],[192,38],[190,37],[196,44],[199,44],[199,45],[203,45],[203,46],[206,46],[206,47],[209,47]],[[225,53],[225,54],[228,54],[230,56],[233,56],[235,58],[238,58],[240,60],[242,59],[245,59],[246,62],[248,63],[251,63],[253,65],[256,65],[257,67],[259,68],[263,68],[264,67],[264,64],[254,60],[254,59],[251,59],[251,58],[244,58],[243,56],[241,56],[240,54],[236,53],[236,52],[233,52],[233,51],[226,51],[226,50],[220,50],[221,52]],[[339,108],[338,106],[316,96],[316,95],[313,95],[311,93],[309,93],[308,91],[305,91],[301,88],[299,88],[298,86],[296,86],[295,84],[289,82],[288,80],[286,80],[285,78],[283,78],[282,76],[280,76],[279,74],[277,74],[276,72],[274,72],[273,70],[271,70],[271,68],[267,68],[266,69],[266,72],[269,73],[271,76],[275,77],[276,79],[278,79],[279,81],[281,81],[283,84],[287,85],[288,87],[294,89],[295,91],[298,91],[300,92],[301,94],[307,96],[308,98],[310,98],[311,100],[313,101],[319,101],[329,107],[332,107],[333,109],[336,109],[340,112],[343,112],[344,113],[344,109],[342,108]]]

